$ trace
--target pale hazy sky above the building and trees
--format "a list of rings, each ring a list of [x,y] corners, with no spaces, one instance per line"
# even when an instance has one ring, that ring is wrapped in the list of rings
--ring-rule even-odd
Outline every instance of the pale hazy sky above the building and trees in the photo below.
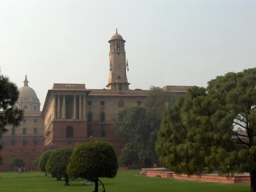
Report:
[[[108,84],[111,36],[123,36],[131,89],[198,85],[256,67],[255,0],[0,0],[0,67],[41,110],[53,83]]]

